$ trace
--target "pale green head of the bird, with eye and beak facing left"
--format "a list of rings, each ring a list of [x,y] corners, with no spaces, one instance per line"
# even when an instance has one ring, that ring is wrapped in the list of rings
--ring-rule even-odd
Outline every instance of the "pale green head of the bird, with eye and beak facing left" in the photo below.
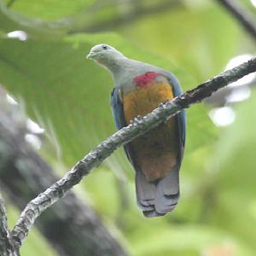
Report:
[[[96,44],[90,49],[90,53],[86,58],[96,61],[103,67],[109,68],[109,66],[119,61],[119,59],[124,59],[125,56],[108,44]]]

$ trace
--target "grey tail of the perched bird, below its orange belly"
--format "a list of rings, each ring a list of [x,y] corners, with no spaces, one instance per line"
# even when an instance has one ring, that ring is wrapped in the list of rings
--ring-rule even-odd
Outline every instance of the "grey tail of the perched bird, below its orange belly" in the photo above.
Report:
[[[163,216],[171,212],[179,198],[179,166],[175,166],[166,177],[148,183],[142,172],[136,172],[137,205],[147,218]]]

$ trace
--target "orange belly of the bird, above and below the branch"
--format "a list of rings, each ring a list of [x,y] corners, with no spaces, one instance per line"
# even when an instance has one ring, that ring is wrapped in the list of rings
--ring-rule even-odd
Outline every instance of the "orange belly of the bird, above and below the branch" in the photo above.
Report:
[[[160,102],[172,100],[173,93],[167,82],[154,82],[146,88],[134,90],[123,96],[125,122],[150,113]],[[136,163],[148,182],[165,177],[177,163],[176,118],[169,119],[142,137],[130,143]]]

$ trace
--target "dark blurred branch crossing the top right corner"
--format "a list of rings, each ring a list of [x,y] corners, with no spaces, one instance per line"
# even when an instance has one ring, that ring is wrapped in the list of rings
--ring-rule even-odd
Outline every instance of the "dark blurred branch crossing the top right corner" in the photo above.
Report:
[[[241,4],[236,3],[236,0],[216,0],[221,3],[231,15],[233,15],[238,22],[250,33],[250,35],[256,40],[256,20]]]

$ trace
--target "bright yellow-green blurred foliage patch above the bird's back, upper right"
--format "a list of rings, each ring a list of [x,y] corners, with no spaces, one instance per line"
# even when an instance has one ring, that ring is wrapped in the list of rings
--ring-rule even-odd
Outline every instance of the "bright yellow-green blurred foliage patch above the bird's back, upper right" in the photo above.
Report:
[[[244,34],[214,1],[189,2],[185,1],[186,7],[143,16],[119,32],[143,49],[176,60],[199,83],[224,68]]]

